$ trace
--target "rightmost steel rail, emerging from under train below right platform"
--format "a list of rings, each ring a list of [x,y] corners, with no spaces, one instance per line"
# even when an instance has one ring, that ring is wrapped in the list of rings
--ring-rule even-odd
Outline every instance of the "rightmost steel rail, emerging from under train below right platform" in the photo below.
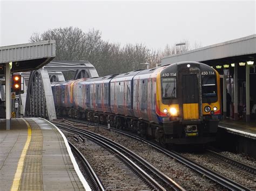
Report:
[[[234,166],[237,166],[237,167],[239,167],[239,168],[242,168],[242,169],[244,169],[244,170],[247,171],[247,172],[256,174],[256,168],[254,168],[254,167],[252,167],[252,166],[246,165],[246,164],[244,164],[244,163],[242,163],[242,162],[239,162],[239,161],[237,161],[237,160],[234,160],[234,159],[232,159],[232,158],[230,158],[230,157],[226,157],[225,155],[220,154],[220,153],[217,153],[217,152],[212,151],[212,150],[210,150],[210,149],[207,149],[207,151],[210,152],[210,154],[214,155],[215,157],[220,158],[220,159],[222,159],[222,160],[225,160],[226,162],[228,162],[228,163],[230,163],[230,164],[232,164],[232,165],[234,165]]]

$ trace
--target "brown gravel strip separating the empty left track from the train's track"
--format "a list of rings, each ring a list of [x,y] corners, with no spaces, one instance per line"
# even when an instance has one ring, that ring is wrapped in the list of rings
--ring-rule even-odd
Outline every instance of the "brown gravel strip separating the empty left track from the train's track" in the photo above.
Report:
[[[94,128],[89,126],[81,127],[94,132]],[[194,172],[192,169],[186,167],[173,158],[167,157],[167,155],[157,151],[155,148],[139,142],[136,139],[121,135],[120,133],[108,131],[100,128],[100,135],[107,137],[114,142],[117,142],[131,151],[138,154],[140,157],[149,161],[153,166],[158,168],[161,172],[165,173],[171,179],[179,183],[187,190],[203,189],[203,190],[223,190],[222,186],[218,185],[199,173]]]

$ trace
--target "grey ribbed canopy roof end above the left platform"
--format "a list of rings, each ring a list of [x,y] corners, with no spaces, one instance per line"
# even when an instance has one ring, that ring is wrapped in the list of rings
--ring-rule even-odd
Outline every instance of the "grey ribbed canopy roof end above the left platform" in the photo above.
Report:
[[[14,72],[37,70],[56,56],[55,40],[0,47],[0,65],[12,62]]]

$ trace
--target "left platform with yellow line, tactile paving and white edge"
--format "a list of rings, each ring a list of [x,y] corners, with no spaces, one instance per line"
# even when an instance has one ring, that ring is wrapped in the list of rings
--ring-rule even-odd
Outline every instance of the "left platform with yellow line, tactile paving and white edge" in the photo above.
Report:
[[[42,118],[0,119],[0,190],[90,190],[63,133]]]

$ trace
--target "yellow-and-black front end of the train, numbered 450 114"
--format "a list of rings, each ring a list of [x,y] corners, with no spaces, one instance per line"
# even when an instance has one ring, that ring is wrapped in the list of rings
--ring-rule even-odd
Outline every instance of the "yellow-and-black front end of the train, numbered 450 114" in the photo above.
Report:
[[[219,74],[198,62],[180,62],[158,75],[158,116],[164,142],[213,142],[220,117]]]

